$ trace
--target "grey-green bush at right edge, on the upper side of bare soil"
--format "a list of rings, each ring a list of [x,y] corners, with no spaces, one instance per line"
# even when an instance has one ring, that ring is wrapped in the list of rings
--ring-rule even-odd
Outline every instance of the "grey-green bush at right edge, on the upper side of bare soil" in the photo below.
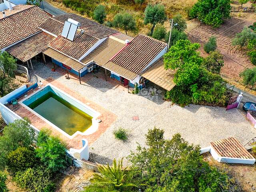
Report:
[[[256,39],[256,33],[252,32],[250,28],[244,27],[242,32],[237,33],[235,38],[232,40],[233,46],[244,47],[247,46],[249,42]]]

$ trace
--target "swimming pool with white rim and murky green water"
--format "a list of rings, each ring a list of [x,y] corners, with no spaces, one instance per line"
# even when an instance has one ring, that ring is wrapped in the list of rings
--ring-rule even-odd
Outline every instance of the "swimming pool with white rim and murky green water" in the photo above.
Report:
[[[21,104],[68,137],[88,135],[98,128],[98,112],[51,84],[40,88]]]

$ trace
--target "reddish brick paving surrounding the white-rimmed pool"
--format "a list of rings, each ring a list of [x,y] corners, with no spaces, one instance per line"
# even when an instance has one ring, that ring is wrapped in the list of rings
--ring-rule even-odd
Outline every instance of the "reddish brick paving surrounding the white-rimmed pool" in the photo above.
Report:
[[[42,83],[43,83],[42,88],[45,88],[46,86],[51,85],[54,88],[61,90],[68,96],[71,96],[76,101],[96,111],[99,114],[97,118],[99,118],[102,121],[98,123],[98,129],[92,134],[83,135],[83,134],[77,133],[72,137],[66,133],[63,134],[62,130],[61,131],[58,130],[59,128],[56,129],[56,126],[55,127],[52,126],[53,125],[52,123],[50,124],[47,123],[45,120],[39,117],[40,115],[38,116],[37,114],[35,114],[33,110],[31,111],[30,108],[28,108],[27,106],[24,106],[24,104],[21,103],[27,98],[29,98],[30,96],[32,96],[33,94],[35,94],[36,92],[40,91],[41,88],[30,90],[29,92],[26,93],[27,95],[26,97],[24,96],[20,97],[18,99],[18,103],[19,103],[18,106],[13,107],[10,104],[6,105],[8,108],[10,108],[12,111],[14,111],[16,114],[18,114],[22,118],[24,117],[29,118],[31,121],[31,124],[36,128],[38,128],[39,130],[41,130],[42,128],[48,128],[52,131],[52,134],[59,135],[60,138],[62,138],[67,143],[67,148],[76,148],[76,149],[82,148],[82,139],[84,138],[88,140],[89,146],[92,145],[94,141],[96,141],[114,122],[116,122],[117,116],[114,113],[106,110],[105,108],[96,104],[95,102],[88,100],[84,96],[70,90],[69,88],[67,88],[60,82],[58,82],[57,80],[54,80],[53,78],[47,78],[46,80],[42,81]]]

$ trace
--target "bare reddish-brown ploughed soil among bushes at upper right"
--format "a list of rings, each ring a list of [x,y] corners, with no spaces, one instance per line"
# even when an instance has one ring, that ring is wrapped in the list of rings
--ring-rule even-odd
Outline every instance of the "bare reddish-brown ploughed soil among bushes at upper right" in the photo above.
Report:
[[[254,65],[250,62],[248,56],[243,50],[232,46],[231,41],[236,33],[242,31],[244,26],[249,26],[255,21],[254,15],[254,13],[248,13],[246,18],[233,16],[232,18],[224,21],[224,24],[217,29],[200,24],[199,21],[194,20],[192,22],[194,28],[190,30],[191,35],[189,35],[189,38],[192,42],[198,42],[201,44],[200,52],[206,56],[207,54],[203,51],[203,42],[207,42],[210,36],[216,36],[217,49],[222,54],[231,58],[229,59],[224,56],[224,67],[222,67],[221,73],[233,80],[239,80],[239,73],[245,69],[243,66],[253,68]],[[200,42],[197,38],[203,42]]]

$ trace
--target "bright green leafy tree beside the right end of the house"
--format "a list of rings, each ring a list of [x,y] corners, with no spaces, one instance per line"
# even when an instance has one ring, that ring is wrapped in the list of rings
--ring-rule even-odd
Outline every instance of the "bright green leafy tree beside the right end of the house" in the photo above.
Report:
[[[178,40],[164,55],[164,68],[177,70],[174,82],[177,85],[190,85],[199,77],[199,68],[203,61],[198,43]]]

